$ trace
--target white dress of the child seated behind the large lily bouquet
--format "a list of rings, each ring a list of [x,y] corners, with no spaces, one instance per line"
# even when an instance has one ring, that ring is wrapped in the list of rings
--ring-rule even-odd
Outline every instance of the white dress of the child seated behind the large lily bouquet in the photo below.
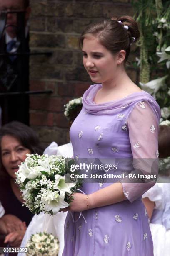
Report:
[[[72,144],[67,143],[58,147],[57,143],[52,142],[50,146],[45,149],[44,154],[60,155],[71,158],[73,156]],[[26,230],[20,247],[26,246],[27,241],[30,239],[32,234],[45,231],[47,233],[52,233],[54,236],[57,236],[60,242],[60,251],[58,256],[62,256],[62,251],[64,248],[64,223],[66,216],[67,212],[58,212],[53,217],[44,214],[43,212],[38,215],[34,215]],[[20,253],[18,256],[25,256],[25,253]]]

